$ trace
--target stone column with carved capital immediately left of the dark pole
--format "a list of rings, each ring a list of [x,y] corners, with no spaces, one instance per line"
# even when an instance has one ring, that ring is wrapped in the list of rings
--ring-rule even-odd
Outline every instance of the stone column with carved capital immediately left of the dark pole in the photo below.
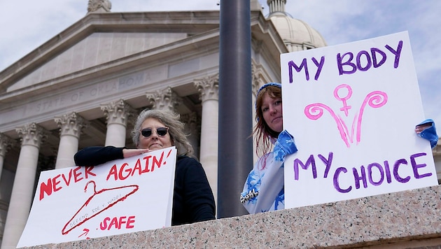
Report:
[[[195,80],[202,100],[200,162],[207,173],[214,199],[218,199],[218,94],[219,76]]]

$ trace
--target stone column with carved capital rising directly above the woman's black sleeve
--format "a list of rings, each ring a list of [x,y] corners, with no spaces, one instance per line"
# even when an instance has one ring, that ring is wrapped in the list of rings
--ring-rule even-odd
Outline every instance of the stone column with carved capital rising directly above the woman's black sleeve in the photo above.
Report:
[[[127,120],[134,115],[135,110],[123,99],[101,106],[107,118],[106,146],[125,146]]]

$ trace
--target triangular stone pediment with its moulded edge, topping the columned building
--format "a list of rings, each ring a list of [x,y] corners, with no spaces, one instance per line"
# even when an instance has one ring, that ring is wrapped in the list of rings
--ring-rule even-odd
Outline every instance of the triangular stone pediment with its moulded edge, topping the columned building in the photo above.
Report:
[[[0,94],[218,29],[218,11],[93,13],[0,72]]]

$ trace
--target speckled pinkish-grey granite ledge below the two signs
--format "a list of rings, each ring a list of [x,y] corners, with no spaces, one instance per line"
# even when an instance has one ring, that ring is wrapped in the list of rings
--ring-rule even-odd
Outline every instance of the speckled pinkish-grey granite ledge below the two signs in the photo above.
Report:
[[[441,186],[31,248],[441,248]]]

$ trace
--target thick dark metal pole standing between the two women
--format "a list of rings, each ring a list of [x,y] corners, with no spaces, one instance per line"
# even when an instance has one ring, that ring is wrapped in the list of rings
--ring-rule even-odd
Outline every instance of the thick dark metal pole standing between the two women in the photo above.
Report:
[[[218,218],[247,214],[239,201],[253,168],[250,0],[222,0],[219,42]]]

